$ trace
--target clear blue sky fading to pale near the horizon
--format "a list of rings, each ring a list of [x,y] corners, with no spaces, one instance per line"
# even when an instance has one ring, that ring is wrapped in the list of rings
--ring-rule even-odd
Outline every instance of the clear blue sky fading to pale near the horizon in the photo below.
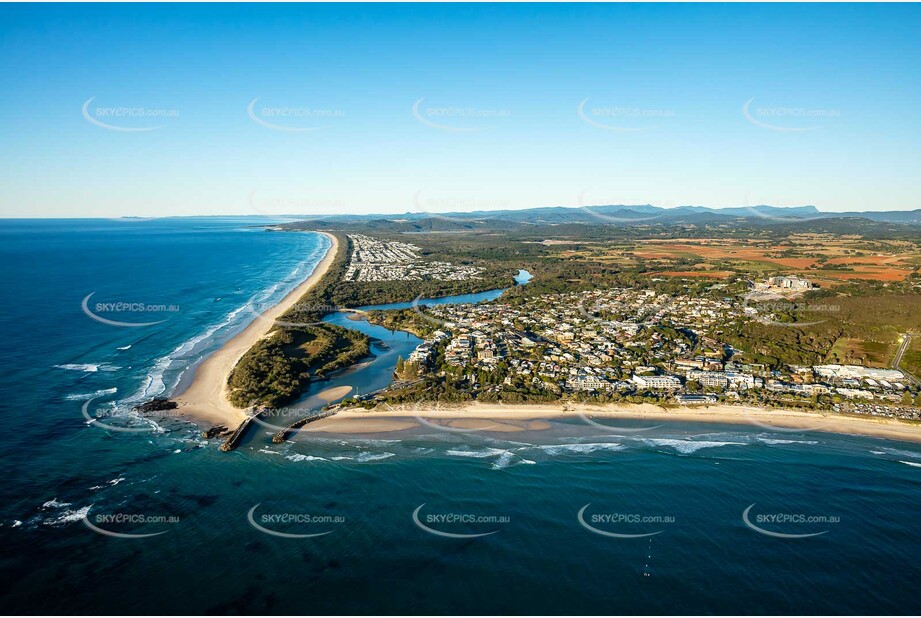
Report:
[[[917,5],[2,5],[0,216],[921,208],[919,72]]]

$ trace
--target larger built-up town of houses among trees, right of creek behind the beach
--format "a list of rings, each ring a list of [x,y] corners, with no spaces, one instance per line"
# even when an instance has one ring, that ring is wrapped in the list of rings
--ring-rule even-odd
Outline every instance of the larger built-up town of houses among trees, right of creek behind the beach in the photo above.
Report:
[[[735,320],[773,316],[729,297],[609,289],[417,310],[437,328],[409,356],[409,366],[435,381],[459,373],[474,396],[524,387],[551,397],[682,405],[850,403],[856,414],[921,418],[921,396],[901,370],[754,362],[720,333]]]

